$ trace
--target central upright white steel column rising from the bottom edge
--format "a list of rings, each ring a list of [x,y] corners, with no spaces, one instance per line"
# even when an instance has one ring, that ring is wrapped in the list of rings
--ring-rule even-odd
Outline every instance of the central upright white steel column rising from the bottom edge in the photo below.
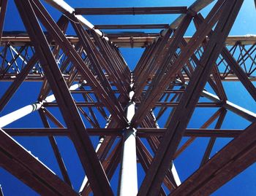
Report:
[[[133,75],[132,75],[133,77]],[[135,114],[135,102],[132,101],[134,91],[132,90],[134,83],[131,82],[131,91],[129,92],[129,103],[127,105],[127,119],[131,122]],[[121,168],[119,177],[118,195],[135,196],[138,193],[138,177],[137,177],[137,156],[136,156],[136,130],[128,127],[123,132],[123,146],[121,155]]]

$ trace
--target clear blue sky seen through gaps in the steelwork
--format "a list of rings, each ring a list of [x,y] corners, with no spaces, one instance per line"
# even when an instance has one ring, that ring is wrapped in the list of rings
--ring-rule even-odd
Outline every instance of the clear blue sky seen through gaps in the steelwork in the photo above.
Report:
[[[181,0],[181,1],[107,1],[107,0],[98,0],[98,1],[86,1],[86,0],[77,0],[67,1],[72,7],[162,7],[162,6],[189,6],[193,3],[193,0]],[[45,4],[50,14],[55,20],[57,20],[61,13],[56,11],[56,9],[51,8],[48,4]],[[212,5],[208,6],[203,10],[203,15],[206,16],[208,10],[211,9]],[[178,15],[118,15],[118,16],[86,16],[86,18],[96,24],[152,24],[152,23],[171,23]],[[25,31],[22,22],[20,21],[20,16],[18,11],[15,8],[15,4],[12,0],[9,1],[7,7],[7,17],[4,24],[4,31]],[[246,35],[246,34],[256,34],[256,12],[255,4],[253,0],[245,0],[241,11],[237,17],[236,23],[234,24],[230,35]],[[116,30],[117,32],[119,30]],[[133,30],[134,31],[134,30]],[[138,30],[144,31],[144,30]],[[158,30],[157,30],[158,31]],[[154,32],[157,32],[154,31]],[[106,31],[114,32],[114,31]],[[148,32],[148,31],[144,31]],[[151,31],[152,32],[152,31]],[[186,36],[192,36],[194,34],[194,26],[189,26]],[[67,34],[74,34],[72,28],[69,28]],[[129,68],[133,70],[140,55],[143,52],[143,49],[134,48],[134,49],[121,49],[122,54],[124,55],[125,60]],[[7,87],[10,85],[8,82],[0,82],[0,95],[4,94],[4,91],[7,90]],[[19,88],[18,92],[13,96],[12,100],[4,111],[0,113],[0,116],[10,113],[15,109],[19,109],[22,106],[26,106],[30,103],[37,101],[37,95],[41,88],[41,83],[32,84],[30,82],[24,82],[23,85]],[[245,88],[241,85],[241,82],[224,82],[224,87],[227,93],[229,101],[236,103],[246,109],[256,112],[255,101],[249,96],[249,93],[246,92]],[[211,92],[211,89],[208,89]],[[203,99],[202,99],[203,100]],[[58,109],[50,110],[53,114],[59,115]],[[196,109],[195,114],[191,121],[189,122],[189,128],[198,128],[203,122],[214,114],[216,109],[211,109],[203,111],[203,109]],[[19,119],[17,122],[8,125],[8,128],[40,128],[42,127],[42,122],[38,121],[39,115],[37,112],[30,114],[23,119]],[[163,122],[159,122],[160,126]],[[210,127],[212,128],[215,123]],[[223,123],[222,128],[246,128],[249,125],[244,119],[238,117],[232,112],[227,113],[225,122]],[[86,125],[89,126],[89,125]],[[58,176],[61,176],[57,162],[53,156],[53,152],[50,149],[50,143],[46,137],[30,137],[22,138],[15,137],[17,141],[20,142],[26,149],[30,150],[32,154],[36,157],[39,157],[39,160],[48,165],[48,167],[53,170]],[[182,142],[184,142],[186,138]],[[94,146],[97,145],[97,137],[92,138],[92,143]],[[213,153],[218,152],[222,146],[225,146],[230,139],[218,138],[216,144],[214,145]],[[83,169],[78,160],[78,156],[75,152],[74,147],[72,146],[71,141],[68,138],[58,137],[57,142],[59,149],[64,158],[64,162],[67,166],[69,172],[69,177],[72,181],[73,187],[78,190],[80,184],[83,181]],[[175,160],[176,169],[181,178],[181,181],[184,181],[189,177],[200,164],[200,160],[203,156],[203,152],[206,149],[208,143],[207,139],[197,139],[192,146],[190,146],[180,157]],[[195,153],[196,152],[196,153]],[[198,153],[197,153],[198,152]],[[211,154],[213,155],[213,154]],[[143,180],[144,173],[141,171],[140,165],[138,165],[138,176],[139,176],[139,185]],[[256,195],[256,165],[252,165],[247,168],[243,173],[236,176],[232,181],[225,184],[217,192],[214,192],[213,195]],[[110,181],[113,190],[116,192],[116,187],[118,184],[118,170],[113,176],[113,179]],[[0,168],[0,184],[3,187],[4,195],[37,195],[36,192],[31,190],[26,185],[20,183],[18,179],[12,176],[7,171]]]

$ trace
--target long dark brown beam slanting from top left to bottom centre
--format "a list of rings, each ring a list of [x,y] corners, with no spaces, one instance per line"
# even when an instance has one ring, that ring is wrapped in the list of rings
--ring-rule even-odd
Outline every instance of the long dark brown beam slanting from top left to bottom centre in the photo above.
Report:
[[[86,174],[89,177],[93,191],[96,195],[105,195],[106,193],[113,195],[108,178],[105,176],[102,165],[86,133],[86,128],[80,118],[78,109],[72,100],[67,84],[61,75],[61,71],[56,64],[56,60],[50,51],[48,42],[34,14],[34,9],[32,8],[32,4],[34,3],[39,3],[39,1],[15,1],[23,23],[31,37],[34,49],[37,52],[39,62],[45,70],[45,75],[50,87],[53,90],[53,94],[56,96],[56,101],[60,105],[61,114],[63,114],[64,120],[71,130],[72,140],[74,141],[83,169],[86,170]]]

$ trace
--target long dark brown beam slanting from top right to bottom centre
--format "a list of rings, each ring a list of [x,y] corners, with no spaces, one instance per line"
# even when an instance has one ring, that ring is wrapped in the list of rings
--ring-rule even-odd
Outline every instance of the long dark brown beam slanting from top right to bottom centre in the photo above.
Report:
[[[222,1],[218,2],[222,4]],[[200,59],[200,66],[197,66],[195,69],[192,80],[187,86],[187,91],[181,98],[181,103],[176,111],[174,111],[173,119],[167,127],[167,132],[143,180],[138,196],[157,195],[159,193],[167,168],[173,160],[173,155],[184,135],[184,130],[195,109],[195,104],[200,97],[200,93],[203,91],[203,87],[206,85],[214,62],[222,51],[225,39],[233,26],[243,1],[225,1],[223,3],[223,12],[219,17],[219,23],[217,23],[214,30],[214,35],[211,36],[208,42],[206,50]]]

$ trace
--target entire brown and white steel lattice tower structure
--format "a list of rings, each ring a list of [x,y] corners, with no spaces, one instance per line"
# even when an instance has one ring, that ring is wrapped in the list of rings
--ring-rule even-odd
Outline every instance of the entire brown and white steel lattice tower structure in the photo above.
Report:
[[[39,0],[15,0],[26,27],[23,34],[3,31],[7,0],[0,1],[0,83],[10,82],[1,93],[0,111],[21,84],[42,84],[34,103],[1,114],[2,168],[40,195],[114,195],[110,179],[120,164],[118,195],[173,196],[210,195],[255,162],[256,114],[230,102],[223,85],[241,82],[256,101],[256,36],[228,36],[243,0],[197,0],[190,7],[77,9],[62,0],[45,1],[63,13],[59,20],[54,21]],[[211,3],[203,17],[200,10]],[[162,14],[180,16],[170,24],[99,26],[84,17]],[[75,36],[65,34],[68,25]],[[191,25],[195,34],[185,37]],[[161,31],[102,31],[119,28]],[[119,47],[145,48],[133,71]],[[59,114],[50,110],[56,107]],[[200,127],[189,128],[198,108],[211,116]],[[12,122],[32,112],[39,113],[43,128],[12,127]],[[222,128],[227,112],[250,125]],[[47,136],[61,175],[13,136]],[[79,192],[72,188],[56,143],[59,136],[72,141],[86,172]],[[91,136],[99,136],[96,148]],[[200,151],[203,158],[199,168],[181,182],[176,158],[197,138],[207,142]],[[217,138],[232,140],[214,154]],[[138,165],[146,173],[140,188]]]

